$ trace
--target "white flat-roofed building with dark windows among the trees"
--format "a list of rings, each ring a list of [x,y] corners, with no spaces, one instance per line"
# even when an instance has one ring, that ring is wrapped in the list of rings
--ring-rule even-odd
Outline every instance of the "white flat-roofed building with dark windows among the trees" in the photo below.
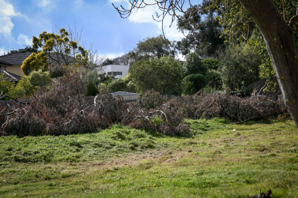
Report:
[[[106,65],[98,71],[98,73],[105,72],[112,79],[118,79],[126,76],[128,73],[128,65]]]

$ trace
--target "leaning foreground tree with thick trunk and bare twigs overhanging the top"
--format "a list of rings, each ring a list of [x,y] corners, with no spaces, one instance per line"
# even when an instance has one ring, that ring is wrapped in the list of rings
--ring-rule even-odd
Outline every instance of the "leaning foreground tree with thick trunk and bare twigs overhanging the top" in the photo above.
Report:
[[[266,48],[270,55],[272,65],[274,66],[274,70],[282,90],[284,102],[288,107],[296,126],[298,127],[298,53],[296,49],[294,31],[290,26],[294,22],[293,19],[295,19],[298,15],[293,15],[292,18],[287,21],[285,9],[283,9],[284,14],[281,15],[272,0],[240,1],[248,11],[249,15],[253,18],[264,38]],[[166,14],[170,14],[172,16],[172,21],[175,20],[175,17],[177,17],[177,12],[183,12],[183,0],[177,0],[175,2],[170,0],[154,0],[154,3],[151,4],[148,2],[146,4],[146,2],[147,1],[145,0],[130,1],[131,7],[128,9],[123,9],[123,7],[118,9],[115,6],[114,7],[118,10],[121,16],[128,17],[131,11],[135,8],[155,5],[162,11],[160,15],[157,14],[158,16],[161,16],[161,19],[164,19]],[[281,7],[284,8],[283,0],[282,3]],[[225,7],[225,9],[229,10],[233,8],[234,4],[237,3],[229,1],[229,6]],[[279,4],[279,6],[280,5],[281,4]],[[231,17],[233,17],[232,12]],[[248,23],[247,21],[243,21],[243,24],[246,25],[243,29],[244,34],[242,34],[245,38],[245,36],[247,36],[245,32],[248,29]]]

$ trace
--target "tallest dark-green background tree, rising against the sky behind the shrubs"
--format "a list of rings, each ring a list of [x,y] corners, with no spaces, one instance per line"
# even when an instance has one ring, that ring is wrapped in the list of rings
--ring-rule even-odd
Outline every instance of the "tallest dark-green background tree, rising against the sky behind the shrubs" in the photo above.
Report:
[[[192,9],[178,18],[178,30],[186,32],[186,37],[177,42],[177,49],[184,55],[195,50],[203,58],[217,57],[218,51],[225,46],[225,40],[220,37],[222,28],[215,13],[206,13],[204,6],[196,5]]]

